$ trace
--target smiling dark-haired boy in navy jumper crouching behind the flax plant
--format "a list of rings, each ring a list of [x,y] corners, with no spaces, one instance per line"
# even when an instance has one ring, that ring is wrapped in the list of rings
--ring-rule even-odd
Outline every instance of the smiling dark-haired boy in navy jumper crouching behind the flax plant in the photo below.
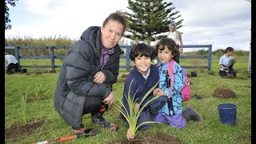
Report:
[[[137,114],[138,110],[150,101],[154,97],[153,92],[147,96],[147,98],[142,102],[144,95],[158,82],[158,67],[151,64],[154,59],[154,50],[147,46],[145,43],[134,44],[130,50],[130,60],[134,62],[134,69],[128,74],[124,86],[124,92],[122,97],[122,102],[130,114],[129,106],[126,97],[130,95],[130,98],[138,99],[134,105],[134,113]],[[131,83],[132,82],[132,83]],[[130,94],[129,93],[130,90]],[[136,93],[137,91],[137,93]],[[167,102],[166,97],[158,97],[150,102],[142,111],[140,117],[138,118],[137,126],[142,122],[152,122],[154,117],[158,113],[158,110]],[[126,122],[126,126],[129,126],[128,122],[124,117],[121,118]],[[149,130],[151,124],[145,124],[139,127],[139,130]],[[130,127],[126,134],[127,139],[133,139],[134,134],[130,132]]]

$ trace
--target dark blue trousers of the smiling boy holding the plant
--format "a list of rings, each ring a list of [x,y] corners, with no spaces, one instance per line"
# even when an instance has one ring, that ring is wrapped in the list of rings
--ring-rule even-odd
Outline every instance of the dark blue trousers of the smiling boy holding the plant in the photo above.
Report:
[[[153,96],[146,98],[146,100],[142,103],[142,106],[144,103],[148,102]],[[148,100],[147,100],[148,99]],[[162,108],[168,101],[168,98],[165,96],[160,96],[156,99],[154,99],[152,102],[148,104],[142,111],[141,115],[138,118],[137,126],[141,124],[142,122],[152,122],[154,121],[155,116],[158,114],[158,110]],[[142,107],[141,106],[141,107]],[[128,122],[125,120],[126,126],[129,126]],[[149,130],[151,127],[151,124],[145,124],[140,126],[139,130]]]

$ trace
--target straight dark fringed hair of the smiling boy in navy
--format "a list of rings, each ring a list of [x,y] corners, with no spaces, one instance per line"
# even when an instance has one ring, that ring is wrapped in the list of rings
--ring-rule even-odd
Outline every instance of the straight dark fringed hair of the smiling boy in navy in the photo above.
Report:
[[[130,59],[134,61],[138,56],[150,57],[152,61],[155,58],[154,49],[145,43],[134,44],[130,49]]]

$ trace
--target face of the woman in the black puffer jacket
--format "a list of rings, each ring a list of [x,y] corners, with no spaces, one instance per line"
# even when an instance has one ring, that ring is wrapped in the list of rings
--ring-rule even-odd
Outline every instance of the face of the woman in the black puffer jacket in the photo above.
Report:
[[[106,25],[101,27],[102,31],[102,45],[106,49],[111,49],[116,46],[122,38],[124,26],[117,21],[110,20]]]

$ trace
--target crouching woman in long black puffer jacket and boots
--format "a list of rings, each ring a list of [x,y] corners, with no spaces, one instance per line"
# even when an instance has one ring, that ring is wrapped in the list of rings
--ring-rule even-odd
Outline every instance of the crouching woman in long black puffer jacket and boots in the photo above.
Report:
[[[118,130],[103,114],[114,103],[112,85],[117,81],[120,55],[118,46],[126,30],[122,12],[110,14],[102,26],[90,26],[68,52],[58,77],[54,107],[75,133],[83,133],[83,114],[91,114],[93,125]]]

